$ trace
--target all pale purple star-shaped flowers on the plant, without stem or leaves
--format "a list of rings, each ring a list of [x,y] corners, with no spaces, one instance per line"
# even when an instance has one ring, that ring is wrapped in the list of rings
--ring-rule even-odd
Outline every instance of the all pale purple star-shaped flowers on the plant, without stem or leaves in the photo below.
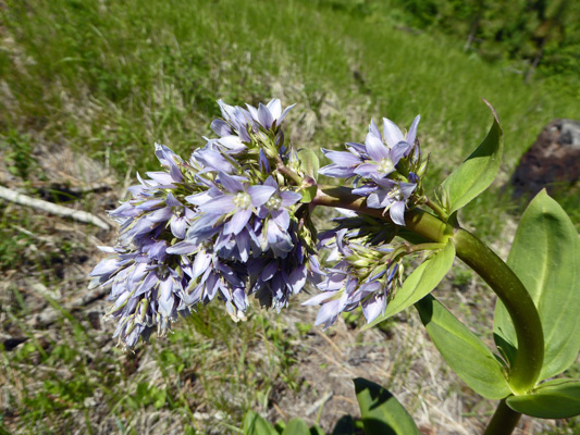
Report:
[[[132,348],[215,298],[236,321],[246,316],[248,296],[280,311],[307,282],[323,290],[306,302],[322,304],[317,324],[329,326],[358,306],[368,321],[384,312],[403,270],[387,244],[395,224],[405,224],[425,167],[415,142],[419,117],[406,137],[385,120],[383,135],[371,123],[366,145],[324,150],[333,163],[320,173],[351,178],[353,191],[388,212],[394,224],[338,220],[318,245],[337,263],[322,271],[312,198],[304,195],[313,179],[281,128],[292,107],[282,110],[277,99],[258,108],[218,103],[217,137],[206,138],[189,160],[156,144],[163,171],[137,175],[132,199],[110,212],[119,239],[101,248],[108,256],[90,285],[111,287],[107,318],[118,321],[114,336]]]

